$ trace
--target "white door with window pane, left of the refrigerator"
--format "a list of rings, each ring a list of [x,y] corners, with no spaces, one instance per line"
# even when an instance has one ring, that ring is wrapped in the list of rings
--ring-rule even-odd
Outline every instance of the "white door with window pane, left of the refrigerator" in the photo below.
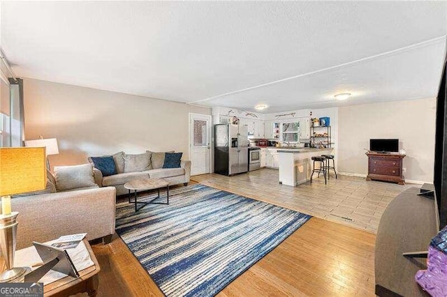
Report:
[[[211,116],[189,114],[189,160],[191,175],[207,174],[211,169]]]

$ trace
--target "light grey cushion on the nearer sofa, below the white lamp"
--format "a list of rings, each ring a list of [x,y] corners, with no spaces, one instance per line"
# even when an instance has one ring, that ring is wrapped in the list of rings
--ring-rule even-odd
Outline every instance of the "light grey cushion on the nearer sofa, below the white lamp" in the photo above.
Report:
[[[57,191],[93,187],[96,185],[91,164],[54,167]]]

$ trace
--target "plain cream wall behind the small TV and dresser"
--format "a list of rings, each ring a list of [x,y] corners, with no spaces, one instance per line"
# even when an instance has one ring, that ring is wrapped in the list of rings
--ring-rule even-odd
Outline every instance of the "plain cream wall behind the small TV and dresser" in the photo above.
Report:
[[[398,138],[406,181],[432,183],[435,120],[435,98],[339,107],[339,171],[366,175],[369,139]]]

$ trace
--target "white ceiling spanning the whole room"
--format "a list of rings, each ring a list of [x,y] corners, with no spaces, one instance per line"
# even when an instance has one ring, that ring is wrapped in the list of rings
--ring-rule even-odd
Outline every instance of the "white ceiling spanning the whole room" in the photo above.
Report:
[[[18,76],[200,105],[434,97],[446,53],[445,1],[1,5]]]

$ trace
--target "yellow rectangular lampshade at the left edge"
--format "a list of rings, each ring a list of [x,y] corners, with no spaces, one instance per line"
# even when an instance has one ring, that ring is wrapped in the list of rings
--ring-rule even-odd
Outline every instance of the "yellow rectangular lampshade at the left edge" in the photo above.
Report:
[[[0,148],[0,196],[45,189],[45,148]]]

